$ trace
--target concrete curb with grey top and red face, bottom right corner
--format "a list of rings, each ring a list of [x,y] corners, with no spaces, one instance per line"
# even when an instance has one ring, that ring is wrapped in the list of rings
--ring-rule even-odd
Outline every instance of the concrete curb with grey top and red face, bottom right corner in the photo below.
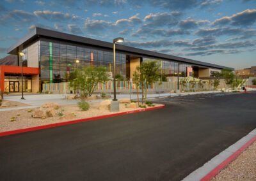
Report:
[[[206,181],[211,180],[217,175],[223,168],[225,168],[230,162],[236,159],[247,147],[249,147],[254,141],[256,141],[256,129],[253,129],[249,134],[241,138],[239,141],[225,149],[223,152],[213,157],[210,161],[204,164],[204,166],[190,173],[184,181]]]

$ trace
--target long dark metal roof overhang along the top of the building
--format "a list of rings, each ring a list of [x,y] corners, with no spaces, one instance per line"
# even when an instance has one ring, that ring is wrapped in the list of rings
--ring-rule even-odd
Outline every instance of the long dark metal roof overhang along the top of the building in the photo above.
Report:
[[[8,49],[8,54],[16,54],[17,55],[17,53],[20,50],[22,50],[23,47],[26,47],[26,45],[29,45],[29,43],[31,43],[32,41],[35,41],[36,39],[38,39],[40,37],[51,38],[51,39],[60,40],[60,41],[69,41],[69,42],[74,42],[74,43],[80,43],[83,45],[90,45],[90,46],[94,46],[94,47],[107,48],[110,50],[113,48],[113,43],[109,43],[106,41],[94,40],[94,39],[86,38],[83,36],[76,36],[73,34],[61,33],[58,31],[52,31],[49,29],[42,29],[40,27],[36,27],[27,36],[24,36],[24,38],[22,38],[15,45],[13,45],[13,47],[10,47]],[[132,54],[132,55],[152,57],[152,58],[156,58],[156,59],[166,59],[167,61],[170,60],[170,61],[189,63],[189,64],[193,64],[193,66],[198,66],[198,67],[202,67],[202,68],[205,67],[205,68],[234,70],[234,68],[228,68],[228,67],[219,66],[216,64],[210,64],[210,63],[206,63],[206,62],[195,61],[192,59],[176,57],[173,55],[161,54],[161,53],[152,52],[149,50],[143,50],[140,48],[128,47],[128,46],[124,46],[124,45],[117,44],[116,50],[125,52],[127,54]]]

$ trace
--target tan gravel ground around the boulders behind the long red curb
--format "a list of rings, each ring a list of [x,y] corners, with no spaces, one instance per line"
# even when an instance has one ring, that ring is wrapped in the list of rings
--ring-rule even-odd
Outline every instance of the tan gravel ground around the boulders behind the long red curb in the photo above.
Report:
[[[155,106],[161,105],[155,104]],[[141,108],[126,108],[125,104],[120,104],[119,112],[128,112],[138,109]],[[81,111],[77,105],[63,105],[60,106],[58,110],[55,110],[57,114],[56,117],[47,117],[45,119],[31,117],[33,110],[35,110],[35,108],[0,112],[0,132],[113,113],[108,110],[99,110],[99,103],[90,103],[90,109],[88,111]],[[60,112],[62,113],[60,114]],[[12,121],[13,117],[15,121]]]

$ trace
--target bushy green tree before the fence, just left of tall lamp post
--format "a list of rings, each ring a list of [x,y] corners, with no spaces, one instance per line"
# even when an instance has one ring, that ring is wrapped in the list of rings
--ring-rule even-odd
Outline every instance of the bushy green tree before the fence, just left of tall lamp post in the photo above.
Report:
[[[109,80],[108,71],[105,67],[85,67],[76,69],[78,87],[82,96],[92,96],[97,83],[103,83]]]

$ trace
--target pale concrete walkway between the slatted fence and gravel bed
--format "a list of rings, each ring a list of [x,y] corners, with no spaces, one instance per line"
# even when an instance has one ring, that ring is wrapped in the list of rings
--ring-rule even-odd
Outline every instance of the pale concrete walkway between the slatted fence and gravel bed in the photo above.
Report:
[[[147,98],[163,98],[166,96],[184,96],[184,95],[193,95],[193,94],[210,94],[210,93],[217,93],[221,91],[202,91],[202,92],[182,92],[182,93],[163,93],[163,94],[148,94]],[[13,107],[13,108],[3,108],[0,109],[0,112],[3,111],[10,111],[10,110],[21,110],[21,109],[28,109],[28,108],[37,108],[40,107],[42,104],[47,102],[54,102],[58,103],[59,105],[73,105],[76,104],[78,100],[67,100],[65,99],[66,94],[36,94],[36,95],[25,95],[25,100],[20,99],[19,96],[6,96],[4,97],[4,100],[6,101],[17,101],[20,103],[25,103],[30,106],[20,106],[20,107]],[[113,96],[113,95],[112,95]],[[136,94],[117,94],[117,99],[124,99],[124,98],[131,98],[131,99],[137,99]],[[141,95],[139,95],[139,98],[141,99]],[[101,99],[92,100],[90,102],[99,102]]]

